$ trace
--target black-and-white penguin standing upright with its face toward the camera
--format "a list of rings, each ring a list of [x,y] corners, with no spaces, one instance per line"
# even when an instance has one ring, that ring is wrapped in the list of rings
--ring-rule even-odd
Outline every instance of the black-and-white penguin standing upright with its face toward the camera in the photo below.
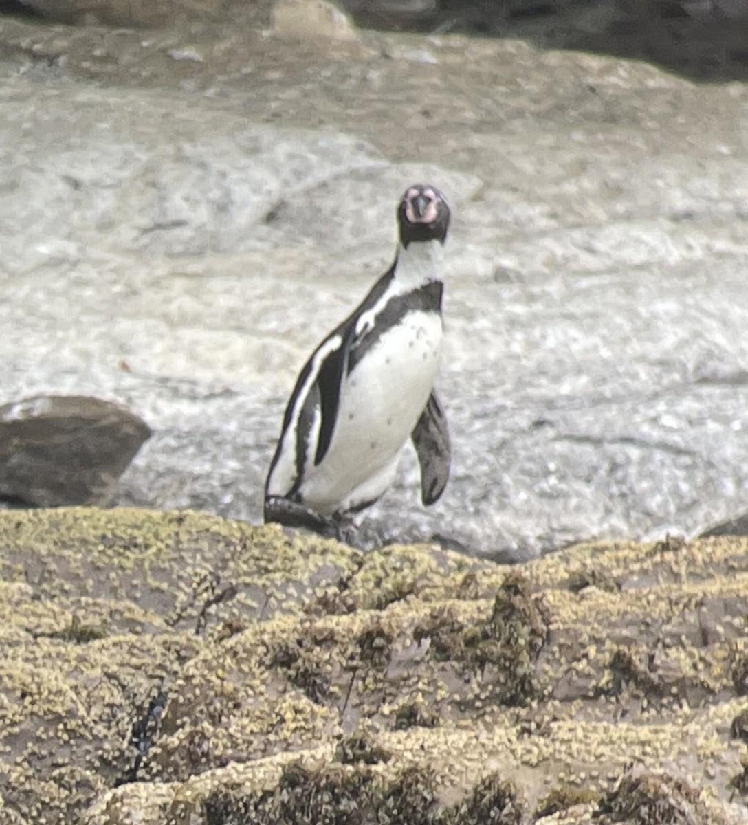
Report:
[[[303,366],[265,486],[265,521],[346,538],[393,483],[408,439],[421,501],[449,478],[449,430],[434,381],[443,335],[445,196],[410,186],[397,208],[392,266]]]

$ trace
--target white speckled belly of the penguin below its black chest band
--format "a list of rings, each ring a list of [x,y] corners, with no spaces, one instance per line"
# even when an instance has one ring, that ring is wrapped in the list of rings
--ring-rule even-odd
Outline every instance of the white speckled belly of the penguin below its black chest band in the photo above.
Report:
[[[344,378],[329,450],[301,486],[308,507],[350,509],[393,482],[400,451],[433,388],[441,339],[440,315],[408,314]]]

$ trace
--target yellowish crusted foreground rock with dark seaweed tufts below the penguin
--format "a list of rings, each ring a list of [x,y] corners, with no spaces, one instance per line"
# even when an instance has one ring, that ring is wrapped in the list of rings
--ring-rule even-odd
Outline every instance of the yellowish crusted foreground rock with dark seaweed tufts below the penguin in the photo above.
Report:
[[[3,821],[748,822],[746,568],[0,513]]]

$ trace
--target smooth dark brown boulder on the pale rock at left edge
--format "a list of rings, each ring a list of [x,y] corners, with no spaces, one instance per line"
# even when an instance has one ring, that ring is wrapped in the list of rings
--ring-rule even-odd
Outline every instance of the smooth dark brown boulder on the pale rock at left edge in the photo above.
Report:
[[[0,498],[56,507],[106,501],[150,428],[119,404],[37,395],[0,406]]]

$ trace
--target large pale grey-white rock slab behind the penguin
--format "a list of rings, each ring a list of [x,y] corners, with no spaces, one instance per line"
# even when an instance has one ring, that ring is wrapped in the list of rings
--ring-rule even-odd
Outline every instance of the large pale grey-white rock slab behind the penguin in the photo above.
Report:
[[[154,429],[115,501],[258,521],[294,378],[449,197],[454,444],[362,544],[522,559],[743,512],[748,88],[518,40],[0,21],[2,396]],[[241,25],[240,25],[241,23]]]

